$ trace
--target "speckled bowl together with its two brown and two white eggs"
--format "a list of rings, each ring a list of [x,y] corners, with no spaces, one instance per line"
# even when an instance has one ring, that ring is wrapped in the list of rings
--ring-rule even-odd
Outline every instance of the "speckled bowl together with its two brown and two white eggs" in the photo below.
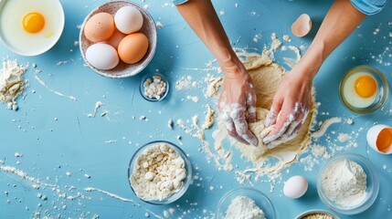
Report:
[[[87,66],[108,78],[131,77],[154,57],[156,27],[139,5],[113,1],[86,16],[79,34],[80,53]]]

